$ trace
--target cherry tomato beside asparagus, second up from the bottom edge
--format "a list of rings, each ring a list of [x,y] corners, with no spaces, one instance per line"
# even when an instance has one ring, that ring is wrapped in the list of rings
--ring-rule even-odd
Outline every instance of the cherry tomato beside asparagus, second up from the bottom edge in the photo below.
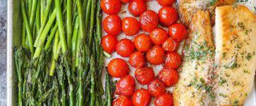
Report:
[[[130,75],[124,76],[116,84],[115,93],[117,95],[124,95],[127,97],[132,96],[135,90],[135,81],[134,78]]]

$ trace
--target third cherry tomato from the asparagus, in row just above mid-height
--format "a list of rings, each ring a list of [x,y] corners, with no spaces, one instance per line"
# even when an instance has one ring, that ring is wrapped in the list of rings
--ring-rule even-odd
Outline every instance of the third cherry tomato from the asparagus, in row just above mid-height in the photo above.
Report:
[[[140,52],[147,52],[152,46],[149,35],[140,34],[134,38],[134,45]]]

